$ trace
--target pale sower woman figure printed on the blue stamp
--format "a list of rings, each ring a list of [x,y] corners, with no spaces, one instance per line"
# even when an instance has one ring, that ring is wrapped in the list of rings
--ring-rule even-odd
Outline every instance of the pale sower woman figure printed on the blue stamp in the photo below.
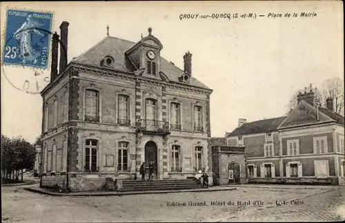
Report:
[[[17,39],[20,42],[20,52],[21,58],[23,59],[23,64],[25,64],[27,61],[34,61],[35,64],[37,63],[39,56],[41,56],[41,54],[31,45],[31,34],[32,32],[35,32],[40,36],[45,36],[45,34],[36,29],[42,25],[43,24],[34,21],[34,19],[32,19],[32,15],[29,14],[28,17],[26,17],[26,21],[23,23],[23,25],[21,25],[21,27],[13,34],[14,39]]]

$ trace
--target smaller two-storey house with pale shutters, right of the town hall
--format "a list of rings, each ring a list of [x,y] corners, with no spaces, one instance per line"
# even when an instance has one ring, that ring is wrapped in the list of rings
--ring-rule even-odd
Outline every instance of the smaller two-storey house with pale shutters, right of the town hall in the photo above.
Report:
[[[288,116],[247,123],[226,133],[229,147],[245,147],[248,182],[344,184],[344,116],[315,104],[312,86]]]

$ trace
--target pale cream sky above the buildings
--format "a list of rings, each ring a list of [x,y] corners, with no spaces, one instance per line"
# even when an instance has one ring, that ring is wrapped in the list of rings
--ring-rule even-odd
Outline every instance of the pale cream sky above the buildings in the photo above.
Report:
[[[110,36],[133,42],[151,27],[163,44],[161,56],[183,69],[183,56],[189,51],[192,75],[213,89],[213,137],[233,131],[238,118],[250,122],[284,116],[298,89],[344,78],[342,1],[1,2],[0,6],[1,33],[6,8],[53,12],[52,31],[58,33],[61,22],[68,21],[68,61],[103,39],[107,25]],[[317,16],[300,17],[301,12]],[[236,13],[255,13],[257,18],[234,19]],[[269,13],[282,17],[268,18]],[[284,17],[286,13],[290,17]],[[199,16],[179,19],[181,14]],[[211,18],[201,19],[206,14]],[[212,14],[230,14],[231,19],[212,19]],[[1,55],[3,45],[2,38]],[[33,73],[29,67],[1,65],[1,134],[20,135],[30,142],[41,134],[42,98],[12,85],[21,89]],[[50,70],[42,71],[42,76],[50,76]],[[42,80],[40,89],[46,85]]]

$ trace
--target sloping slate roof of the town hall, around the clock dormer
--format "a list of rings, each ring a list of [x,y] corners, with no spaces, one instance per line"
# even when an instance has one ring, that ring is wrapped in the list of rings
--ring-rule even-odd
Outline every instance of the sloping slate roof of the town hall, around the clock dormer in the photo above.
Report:
[[[86,65],[99,66],[102,59],[105,56],[112,56],[115,59],[112,67],[117,70],[123,70],[124,72],[134,72],[133,65],[126,59],[125,52],[133,47],[136,43],[119,39],[112,36],[106,36],[95,46],[91,47],[88,51],[81,54],[77,59],[73,59],[77,63],[83,63]],[[173,65],[163,57],[161,57],[161,71],[168,76],[170,81],[179,82],[179,76],[184,74],[184,71],[179,67]],[[190,78],[189,85],[203,87],[209,89],[204,83],[201,83],[193,76]]]

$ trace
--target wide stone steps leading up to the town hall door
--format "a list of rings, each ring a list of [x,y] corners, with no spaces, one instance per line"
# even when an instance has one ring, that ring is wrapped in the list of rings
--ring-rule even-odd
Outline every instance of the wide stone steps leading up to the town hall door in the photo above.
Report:
[[[184,180],[124,180],[121,191],[165,191],[182,189],[200,189],[194,179]]]

